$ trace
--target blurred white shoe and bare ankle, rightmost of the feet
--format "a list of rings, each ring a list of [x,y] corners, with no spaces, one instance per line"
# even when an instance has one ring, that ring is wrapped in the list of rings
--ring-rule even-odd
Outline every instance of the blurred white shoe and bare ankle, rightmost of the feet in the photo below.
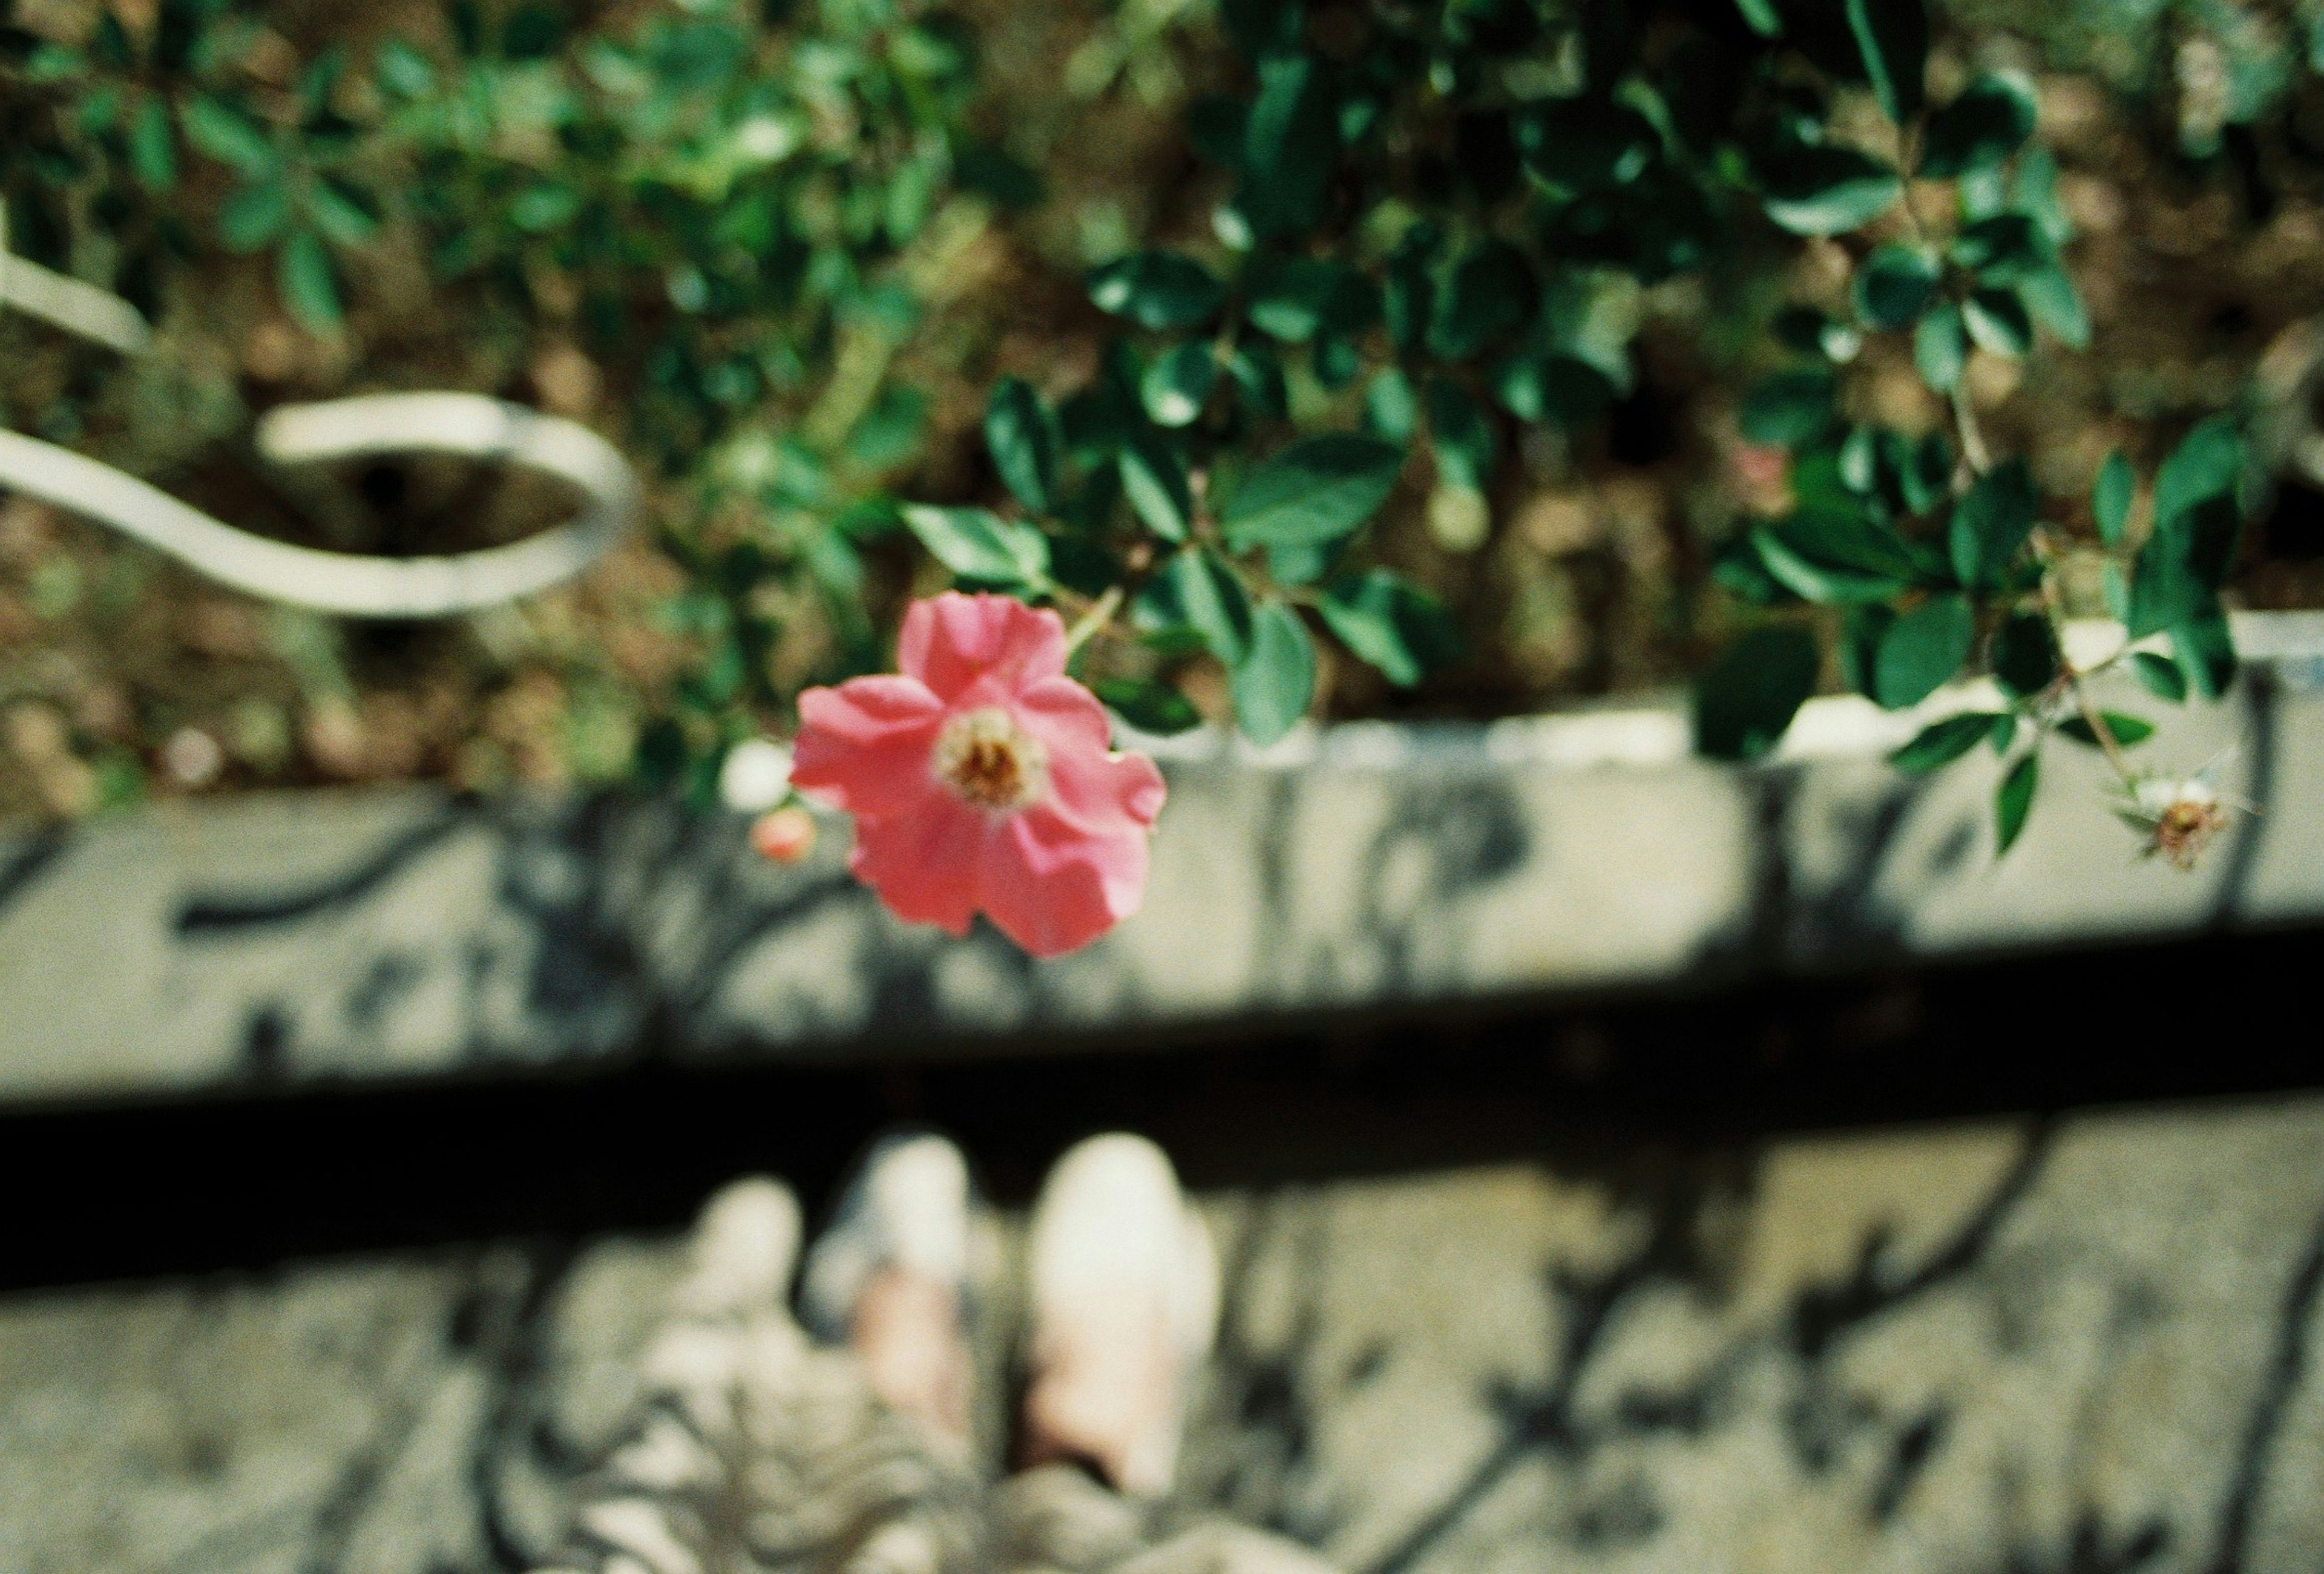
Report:
[[[1032,1221],[1027,1465],[1078,1462],[1132,1497],[1178,1467],[1185,1386],[1218,1328],[1218,1258],[1162,1149],[1092,1137]]]

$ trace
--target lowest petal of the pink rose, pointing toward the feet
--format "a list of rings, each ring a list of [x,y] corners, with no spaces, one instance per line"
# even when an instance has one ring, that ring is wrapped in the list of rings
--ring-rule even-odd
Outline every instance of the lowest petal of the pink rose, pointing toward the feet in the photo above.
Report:
[[[1143,890],[1143,830],[1092,837],[1046,809],[999,823],[976,881],[978,907],[1039,958],[1090,944],[1134,914]]]

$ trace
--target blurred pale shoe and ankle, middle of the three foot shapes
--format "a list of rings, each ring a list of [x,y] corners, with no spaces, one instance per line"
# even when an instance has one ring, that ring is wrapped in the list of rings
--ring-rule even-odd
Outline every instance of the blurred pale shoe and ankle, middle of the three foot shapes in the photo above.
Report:
[[[871,1149],[806,1258],[799,1309],[846,1342],[888,1407],[969,1451],[969,1165],[944,1137]]]

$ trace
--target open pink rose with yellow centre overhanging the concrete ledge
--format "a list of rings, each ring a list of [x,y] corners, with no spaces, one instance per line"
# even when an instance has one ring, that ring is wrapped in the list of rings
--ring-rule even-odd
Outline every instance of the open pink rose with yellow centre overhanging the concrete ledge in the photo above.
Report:
[[[888,911],[953,935],[983,911],[1034,956],[1136,911],[1162,772],[1109,749],[1057,614],[948,591],[904,614],[897,665],[799,695],[790,772],[855,816],[848,867]]]

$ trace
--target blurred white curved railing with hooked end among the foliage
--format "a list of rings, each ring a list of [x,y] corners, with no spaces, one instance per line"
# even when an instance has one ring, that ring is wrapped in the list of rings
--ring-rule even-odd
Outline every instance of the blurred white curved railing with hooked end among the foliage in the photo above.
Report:
[[[9,256],[0,232],[0,309],[16,309],[121,353],[151,344],[119,295]],[[481,393],[374,393],[284,405],[258,423],[258,453],[307,465],[367,453],[462,453],[576,486],[581,514],[555,530],[446,558],[365,558],[237,530],[112,465],[0,430],[0,488],[102,521],[237,591],[358,618],[474,611],[572,579],[637,516],[637,477],[597,432]]]

